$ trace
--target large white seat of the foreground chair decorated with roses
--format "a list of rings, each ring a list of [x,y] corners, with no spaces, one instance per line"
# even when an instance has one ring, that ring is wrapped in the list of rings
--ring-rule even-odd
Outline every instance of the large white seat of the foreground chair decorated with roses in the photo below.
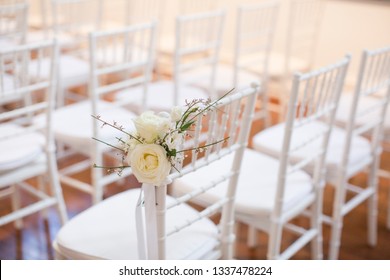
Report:
[[[70,220],[57,235],[59,251],[71,259],[138,259],[135,207],[139,191],[132,189],[112,196]],[[168,196],[167,204],[172,200]],[[169,210],[167,231],[197,214],[185,204]],[[216,225],[202,219],[168,237],[167,259],[201,258],[217,245],[217,234]]]

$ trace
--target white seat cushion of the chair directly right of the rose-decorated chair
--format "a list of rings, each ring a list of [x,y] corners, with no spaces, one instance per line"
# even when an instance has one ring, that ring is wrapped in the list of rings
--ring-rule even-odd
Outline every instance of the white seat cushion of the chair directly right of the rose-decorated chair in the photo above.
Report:
[[[211,163],[207,168],[199,169],[185,175],[173,183],[173,195],[182,195],[191,190],[203,187],[213,179],[218,179],[232,166],[233,155]],[[237,185],[235,212],[238,215],[267,216],[275,205],[276,185],[278,180],[279,161],[268,156],[246,149],[241,163],[241,173]],[[201,205],[210,205],[225,195],[226,182],[209,190],[196,199]],[[285,204],[288,210],[312,190],[310,176],[304,172],[295,172],[287,179]]]

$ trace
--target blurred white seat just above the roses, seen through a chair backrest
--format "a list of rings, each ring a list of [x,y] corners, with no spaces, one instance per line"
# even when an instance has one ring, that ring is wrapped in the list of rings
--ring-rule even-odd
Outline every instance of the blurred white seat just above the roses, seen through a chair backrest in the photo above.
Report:
[[[158,81],[151,83],[148,88],[146,104],[152,110],[170,111],[175,105],[174,83],[172,81]],[[134,109],[142,108],[143,87],[138,86],[131,89],[119,91],[117,100],[126,100]],[[179,86],[179,100],[177,105],[185,105],[186,100],[207,99],[208,95],[201,89],[191,86]],[[132,108],[133,109],[133,108]]]

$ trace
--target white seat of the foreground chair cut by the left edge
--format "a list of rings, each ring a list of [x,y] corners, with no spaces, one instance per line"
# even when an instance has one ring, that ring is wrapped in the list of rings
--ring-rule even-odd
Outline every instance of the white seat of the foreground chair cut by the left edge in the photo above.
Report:
[[[0,173],[34,161],[45,145],[45,137],[42,134],[27,132],[23,127],[14,124],[0,125],[0,135]]]

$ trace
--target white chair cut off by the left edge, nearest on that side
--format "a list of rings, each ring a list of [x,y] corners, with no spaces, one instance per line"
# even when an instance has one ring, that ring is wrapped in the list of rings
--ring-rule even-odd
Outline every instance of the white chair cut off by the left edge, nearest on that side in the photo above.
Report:
[[[11,195],[13,207],[11,213],[0,217],[0,225],[14,221],[20,228],[23,217],[52,206],[58,208],[61,223],[67,221],[52,123],[57,47],[53,42],[41,42],[0,51],[0,104],[12,102],[0,113],[0,196]],[[27,69],[31,63],[35,61],[34,71],[42,71],[39,65],[46,57],[51,61],[52,75],[42,80],[30,79]],[[5,60],[7,65],[4,65]],[[9,65],[11,70],[7,70]],[[15,102],[23,99],[32,102]],[[37,114],[45,116],[42,125],[34,122]],[[38,179],[38,186],[27,181],[34,177]],[[21,191],[32,197],[31,203],[22,203]]]

